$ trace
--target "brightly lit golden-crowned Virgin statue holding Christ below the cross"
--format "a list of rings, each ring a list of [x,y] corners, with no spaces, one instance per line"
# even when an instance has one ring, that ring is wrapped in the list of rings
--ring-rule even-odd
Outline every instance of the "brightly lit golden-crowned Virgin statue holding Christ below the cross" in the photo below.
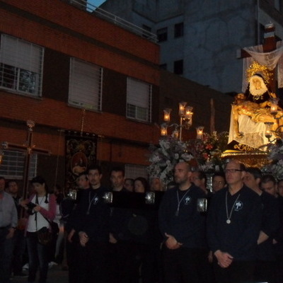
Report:
[[[276,98],[270,91],[267,79],[262,74],[250,73],[246,93],[238,93],[231,110],[229,142],[258,149],[270,142],[265,137],[266,125],[272,125],[272,131],[283,125],[283,112],[278,107],[273,114],[270,111],[271,98]]]

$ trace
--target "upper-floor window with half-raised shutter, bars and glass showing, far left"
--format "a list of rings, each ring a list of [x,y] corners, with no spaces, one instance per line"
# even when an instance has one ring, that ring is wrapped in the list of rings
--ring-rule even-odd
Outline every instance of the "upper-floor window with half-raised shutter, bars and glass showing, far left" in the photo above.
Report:
[[[9,35],[1,35],[0,87],[41,96],[44,49]]]

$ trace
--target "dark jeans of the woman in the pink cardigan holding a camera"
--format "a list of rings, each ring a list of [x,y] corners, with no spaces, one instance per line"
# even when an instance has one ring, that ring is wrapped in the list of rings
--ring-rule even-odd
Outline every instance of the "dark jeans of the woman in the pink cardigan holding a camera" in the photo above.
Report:
[[[28,282],[35,282],[35,275],[39,267],[40,278],[38,282],[45,283],[48,272],[48,246],[37,241],[36,232],[27,232],[29,273]]]

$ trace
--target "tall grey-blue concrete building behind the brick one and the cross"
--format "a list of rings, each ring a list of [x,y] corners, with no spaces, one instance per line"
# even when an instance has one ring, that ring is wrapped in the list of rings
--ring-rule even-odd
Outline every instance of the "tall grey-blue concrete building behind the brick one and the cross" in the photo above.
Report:
[[[161,67],[222,93],[241,91],[237,50],[262,44],[267,23],[283,39],[279,0],[107,0],[100,8],[156,33]]]

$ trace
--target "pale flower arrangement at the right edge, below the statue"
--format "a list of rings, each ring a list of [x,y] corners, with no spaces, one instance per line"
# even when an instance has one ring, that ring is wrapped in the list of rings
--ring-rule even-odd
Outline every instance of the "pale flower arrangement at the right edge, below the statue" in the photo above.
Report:
[[[269,151],[268,158],[271,163],[262,168],[263,173],[272,173],[277,179],[283,179],[283,140],[277,140],[276,144],[270,144],[267,146]]]

